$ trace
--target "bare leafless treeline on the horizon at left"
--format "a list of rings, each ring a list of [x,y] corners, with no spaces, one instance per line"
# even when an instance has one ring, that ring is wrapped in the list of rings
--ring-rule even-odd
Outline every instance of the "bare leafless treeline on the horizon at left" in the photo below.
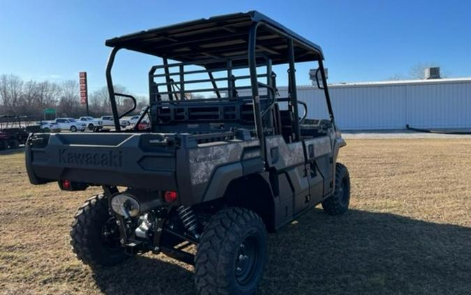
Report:
[[[126,88],[120,85],[115,85],[114,90],[128,93]],[[137,102],[136,112],[139,112],[147,101],[146,98],[137,98]],[[117,106],[119,112],[124,112],[132,106],[132,102],[126,98],[117,98]],[[87,111],[85,105],[80,104],[78,82],[24,81],[16,75],[0,76],[0,114],[24,115],[40,119],[45,109],[56,109],[58,117],[85,116]],[[111,114],[106,86],[89,92],[89,112],[91,116]]]

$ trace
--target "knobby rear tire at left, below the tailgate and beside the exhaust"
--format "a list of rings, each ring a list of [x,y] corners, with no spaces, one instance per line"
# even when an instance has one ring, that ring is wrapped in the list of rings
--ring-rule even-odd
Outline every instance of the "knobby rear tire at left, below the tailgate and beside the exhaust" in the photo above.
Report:
[[[80,206],[70,237],[73,252],[91,267],[113,266],[129,257],[119,243],[119,229],[104,195],[95,195]]]

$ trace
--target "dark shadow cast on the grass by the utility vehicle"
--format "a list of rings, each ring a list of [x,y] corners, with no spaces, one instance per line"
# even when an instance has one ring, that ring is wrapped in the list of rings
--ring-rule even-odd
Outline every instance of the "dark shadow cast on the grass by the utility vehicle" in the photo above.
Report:
[[[136,257],[95,273],[106,294],[194,294],[193,273]],[[269,236],[260,294],[467,294],[471,229],[320,209]]]

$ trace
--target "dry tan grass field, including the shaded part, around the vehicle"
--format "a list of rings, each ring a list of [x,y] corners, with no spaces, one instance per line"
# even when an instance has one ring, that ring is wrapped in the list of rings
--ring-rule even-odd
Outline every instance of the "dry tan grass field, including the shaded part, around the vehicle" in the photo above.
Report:
[[[317,207],[269,236],[260,294],[470,294],[471,139],[352,139],[351,210]],[[144,255],[92,272],[68,230],[98,192],[30,186],[0,155],[0,293],[193,294],[192,268]]]

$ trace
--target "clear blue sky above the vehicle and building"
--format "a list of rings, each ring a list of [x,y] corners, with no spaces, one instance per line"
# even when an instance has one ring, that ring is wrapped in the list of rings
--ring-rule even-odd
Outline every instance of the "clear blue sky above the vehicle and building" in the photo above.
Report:
[[[320,44],[329,82],[385,80],[408,75],[417,63],[438,63],[449,77],[471,76],[471,2],[465,0],[0,0],[0,74],[61,81],[86,70],[93,91],[105,85],[105,39],[248,10]],[[120,53],[114,81],[147,95],[147,72],[156,63],[155,57]],[[307,68],[301,70],[306,75],[298,84],[308,84]]]

